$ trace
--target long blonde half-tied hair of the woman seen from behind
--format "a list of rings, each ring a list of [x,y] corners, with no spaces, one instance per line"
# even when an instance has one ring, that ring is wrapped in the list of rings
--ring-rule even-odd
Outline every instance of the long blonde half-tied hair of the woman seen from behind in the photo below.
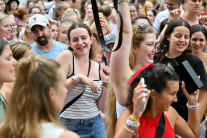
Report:
[[[3,138],[38,138],[40,120],[64,128],[57,119],[49,89],[61,81],[60,64],[43,56],[22,58],[17,67],[16,83],[7,107],[0,135]]]

